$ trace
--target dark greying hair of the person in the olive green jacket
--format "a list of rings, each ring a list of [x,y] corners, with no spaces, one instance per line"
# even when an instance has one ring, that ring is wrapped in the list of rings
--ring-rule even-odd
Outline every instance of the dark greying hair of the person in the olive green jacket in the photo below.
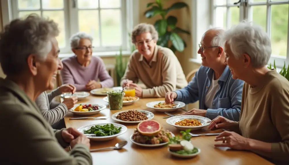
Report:
[[[37,14],[14,19],[0,33],[0,63],[6,75],[27,69],[27,58],[35,54],[45,60],[52,49],[51,39],[59,35],[58,24]]]

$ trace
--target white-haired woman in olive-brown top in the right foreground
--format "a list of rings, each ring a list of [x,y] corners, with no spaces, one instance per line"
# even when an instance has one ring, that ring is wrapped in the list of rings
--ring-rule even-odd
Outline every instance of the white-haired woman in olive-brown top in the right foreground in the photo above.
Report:
[[[218,116],[209,128],[223,128],[216,147],[250,150],[275,164],[289,164],[289,82],[266,67],[271,41],[261,27],[240,23],[223,36],[234,79],[245,81],[240,121]],[[219,143],[221,142],[221,143]]]

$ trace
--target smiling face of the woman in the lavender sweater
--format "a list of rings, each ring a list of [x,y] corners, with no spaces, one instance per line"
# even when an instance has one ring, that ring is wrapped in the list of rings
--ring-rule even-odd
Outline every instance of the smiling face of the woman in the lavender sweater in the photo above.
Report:
[[[77,56],[77,60],[81,63],[85,63],[91,60],[92,56],[92,44],[87,38],[81,38],[77,48],[72,49],[73,53]]]

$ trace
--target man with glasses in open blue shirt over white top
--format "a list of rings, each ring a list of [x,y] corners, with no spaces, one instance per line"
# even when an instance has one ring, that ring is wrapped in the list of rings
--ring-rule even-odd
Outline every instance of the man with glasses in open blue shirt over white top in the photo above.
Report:
[[[224,63],[224,45],[221,43],[224,32],[221,28],[205,32],[198,50],[202,57],[201,67],[188,86],[166,93],[166,103],[182,101],[188,104],[199,101],[199,109],[194,108],[184,115],[210,119],[220,115],[239,121],[244,81],[233,79],[229,67]]]

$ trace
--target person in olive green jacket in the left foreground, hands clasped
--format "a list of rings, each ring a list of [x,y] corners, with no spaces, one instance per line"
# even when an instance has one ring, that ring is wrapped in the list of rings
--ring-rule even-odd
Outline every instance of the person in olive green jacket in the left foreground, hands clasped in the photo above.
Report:
[[[0,33],[0,164],[92,164],[90,141],[79,131],[53,130],[35,104],[54,87],[61,62],[58,25],[38,15],[13,20]],[[66,152],[63,147],[71,146]]]

